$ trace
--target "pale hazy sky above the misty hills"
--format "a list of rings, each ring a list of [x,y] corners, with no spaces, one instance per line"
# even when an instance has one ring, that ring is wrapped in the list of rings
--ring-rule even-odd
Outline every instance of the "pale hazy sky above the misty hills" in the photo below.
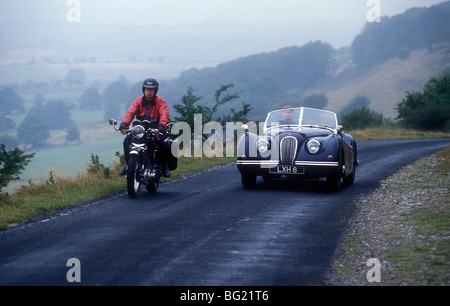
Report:
[[[173,77],[191,67],[211,67],[310,41],[349,47],[375,6],[381,16],[393,16],[441,2],[0,0],[0,65],[51,55],[99,62],[133,56],[164,61],[164,71],[158,73]],[[68,13],[77,4],[80,22],[71,22]]]

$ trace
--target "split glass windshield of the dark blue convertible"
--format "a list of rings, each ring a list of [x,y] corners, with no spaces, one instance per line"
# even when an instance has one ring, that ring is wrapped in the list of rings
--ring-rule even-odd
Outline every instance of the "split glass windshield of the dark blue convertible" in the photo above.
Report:
[[[336,114],[330,111],[298,107],[270,112],[265,122],[265,130],[270,128],[300,128],[301,126],[324,126],[336,129]]]

